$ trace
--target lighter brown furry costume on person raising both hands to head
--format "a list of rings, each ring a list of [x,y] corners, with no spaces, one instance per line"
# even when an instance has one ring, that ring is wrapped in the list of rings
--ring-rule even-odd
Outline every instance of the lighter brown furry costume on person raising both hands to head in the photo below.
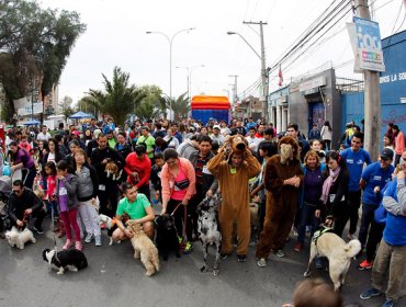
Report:
[[[235,138],[238,139],[238,138]],[[233,141],[233,138],[229,139]],[[208,161],[208,171],[218,180],[223,203],[219,206],[219,225],[222,231],[222,253],[232,253],[233,224],[237,224],[238,246],[237,254],[247,254],[250,239],[250,213],[248,181],[256,177],[261,166],[247,149],[244,152],[244,161],[232,173],[232,164],[228,163],[230,155],[227,155],[223,146],[218,154]],[[234,172],[234,171],[233,171]]]

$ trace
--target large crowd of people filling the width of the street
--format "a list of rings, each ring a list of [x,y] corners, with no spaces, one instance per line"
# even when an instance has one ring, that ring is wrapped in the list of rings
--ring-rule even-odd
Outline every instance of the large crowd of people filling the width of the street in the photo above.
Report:
[[[363,149],[363,132],[354,123],[347,124],[339,144],[331,139],[328,122],[320,130],[313,125],[306,138],[294,123],[277,133],[272,124],[252,118],[211,118],[205,125],[190,118],[136,121],[123,126],[112,118],[93,118],[67,129],[60,124],[55,132],[46,126],[38,132],[10,129],[0,168],[5,170],[9,162],[11,173],[22,172],[9,200],[13,225],[35,217],[34,229],[42,234],[43,219],[53,215],[58,237],[67,238],[63,249],[81,250],[82,241],[92,240],[101,246],[98,214],[115,218],[114,240],[133,236],[125,227],[128,218],[142,223],[154,238],[154,205],[160,202],[160,214],[174,215],[179,240],[189,253],[199,237],[196,206],[218,191],[223,259],[233,254],[236,240],[237,260],[245,262],[253,240],[257,263],[263,268],[272,251],[285,257],[292,229],[294,250],[301,252],[306,231],[313,235],[326,225],[342,237],[349,221],[348,239],[358,238],[363,247],[358,269],[372,269],[372,288],[361,298],[380,295],[383,274],[390,271],[384,306],[394,306],[402,296],[406,260],[405,136],[390,124],[377,161]],[[260,221],[255,238],[252,203]],[[323,263],[316,260],[316,265]]]

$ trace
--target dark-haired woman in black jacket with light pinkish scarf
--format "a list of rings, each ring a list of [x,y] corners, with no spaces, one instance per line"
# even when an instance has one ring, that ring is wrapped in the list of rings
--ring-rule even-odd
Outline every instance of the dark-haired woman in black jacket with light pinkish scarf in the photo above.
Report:
[[[326,226],[334,223],[334,231],[341,237],[349,217],[348,183],[350,174],[345,159],[337,151],[329,151],[326,157],[327,169],[324,171],[324,183],[320,201],[326,206]],[[320,215],[320,209],[316,211]]]

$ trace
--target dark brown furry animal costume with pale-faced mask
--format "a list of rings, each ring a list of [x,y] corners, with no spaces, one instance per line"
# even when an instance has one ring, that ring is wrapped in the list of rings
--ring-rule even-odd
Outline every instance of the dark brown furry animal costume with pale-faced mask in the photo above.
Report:
[[[290,136],[278,144],[280,155],[268,160],[263,183],[268,190],[267,214],[257,247],[257,258],[269,257],[271,249],[281,250],[291,231],[297,208],[298,187],[287,185],[285,180],[297,177],[303,183],[298,145]]]

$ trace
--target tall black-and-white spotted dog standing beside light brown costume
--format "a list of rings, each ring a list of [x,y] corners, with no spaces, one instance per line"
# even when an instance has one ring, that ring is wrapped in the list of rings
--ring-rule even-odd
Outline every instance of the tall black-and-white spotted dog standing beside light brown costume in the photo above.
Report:
[[[212,197],[204,197],[198,205],[198,232],[203,246],[204,264],[201,272],[207,272],[207,249],[210,245],[216,246],[216,259],[213,268],[213,275],[218,274],[219,257],[222,251],[222,234],[218,230],[218,206],[222,196],[216,192]]]

